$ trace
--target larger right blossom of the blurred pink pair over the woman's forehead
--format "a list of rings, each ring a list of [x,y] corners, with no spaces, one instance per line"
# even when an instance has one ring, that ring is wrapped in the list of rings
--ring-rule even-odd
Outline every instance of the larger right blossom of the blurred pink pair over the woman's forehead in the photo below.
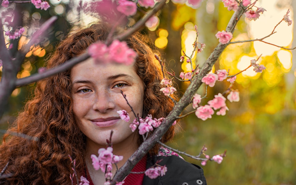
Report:
[[[117,63],[131,65],[135,62],[136,52],[129,48],[126,42],[115,40],[109,46],[109,57]]]

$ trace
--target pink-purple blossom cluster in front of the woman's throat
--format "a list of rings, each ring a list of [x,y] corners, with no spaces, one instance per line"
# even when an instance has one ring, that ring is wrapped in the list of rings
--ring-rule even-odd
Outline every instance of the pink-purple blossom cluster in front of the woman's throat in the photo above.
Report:
[[[98,150],[98,157],[93,154],[91,155],[92,165],[95,170],[101,169],[103,173],[106,172],[105,175],[112,176],[112,164],[118,163],[123,159],[123,156],[114,155],[112,151],[112,147],[107,147],[107,149],[100,148]]]

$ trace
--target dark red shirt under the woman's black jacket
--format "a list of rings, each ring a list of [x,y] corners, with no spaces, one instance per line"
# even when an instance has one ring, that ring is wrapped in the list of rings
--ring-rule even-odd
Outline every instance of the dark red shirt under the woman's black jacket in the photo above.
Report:
[[[139,163],[137,163],[133,169],[132,172],[144,172],[146,170],[146,163],[147,163],[147,156],[145,155]],[[89,185],[94,185],[93,181],[91,180],[91,177],[89,175],[89,171],[86,168],[86,179],[89,181]],[[136,174],[136,173],[130,173],[128,176],[124,179],[124,185],[142,185],[144,179],[144,173]]]

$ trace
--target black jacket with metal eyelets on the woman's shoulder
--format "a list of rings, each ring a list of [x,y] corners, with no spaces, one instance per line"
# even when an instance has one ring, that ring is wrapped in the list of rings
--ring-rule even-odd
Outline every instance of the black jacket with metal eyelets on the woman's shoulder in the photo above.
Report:
[[[144,176],[143,185],[207,185],[200,166],[188,163],[175,155],[148,157],[146,169],[153,166],[157,160],[161,160],[158,164],[165,165],[168,171],[156,179]]]

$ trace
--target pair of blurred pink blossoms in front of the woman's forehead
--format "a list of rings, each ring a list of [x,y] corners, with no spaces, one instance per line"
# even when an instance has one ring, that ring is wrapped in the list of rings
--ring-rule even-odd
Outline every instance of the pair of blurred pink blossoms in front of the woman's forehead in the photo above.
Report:
[[[135,62],[136,52],[129,48],[126,42],[115,40],[107,46],[102,42],[94,43],[89,46],[88,53],[96,62],[115,63],[131,65]]]

